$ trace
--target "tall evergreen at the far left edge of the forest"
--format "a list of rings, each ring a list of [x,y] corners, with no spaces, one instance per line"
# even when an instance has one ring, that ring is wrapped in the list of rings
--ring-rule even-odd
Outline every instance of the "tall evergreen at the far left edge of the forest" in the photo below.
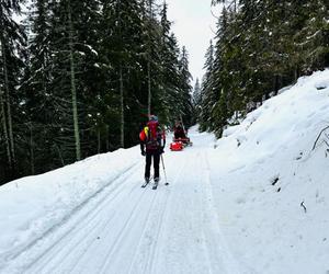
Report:
[[[20,0],[0,2],[0,165],[5,178],[18,175],[15,132],[21,103],[18,87],[23,67],[25,34],[13,15],[20,12]]]

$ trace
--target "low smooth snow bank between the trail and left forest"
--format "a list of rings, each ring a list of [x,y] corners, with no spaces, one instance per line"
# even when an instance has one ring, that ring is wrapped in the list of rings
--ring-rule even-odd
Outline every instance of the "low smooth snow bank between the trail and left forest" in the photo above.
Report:
[[[23,252],[139,162],[137,147],[120,149],[2,185],[0,265]]]

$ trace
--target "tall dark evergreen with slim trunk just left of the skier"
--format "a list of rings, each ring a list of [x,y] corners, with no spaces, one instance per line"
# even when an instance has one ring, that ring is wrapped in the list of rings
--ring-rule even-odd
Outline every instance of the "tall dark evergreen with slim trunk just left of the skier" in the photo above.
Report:
[[[112,95],[112,102],[117,99],[121,147],[125,147],[125,128],[132,126],[126,116],[134,115],[131,110],[139,102],[136,91],[140,88],[136,85],[136,81],[141,78],[141,55],[145,50],[141,41],[144,27],[141,11],[143,5],[135,0],[106,1],[103,8],[105,38],[102,48],[105,59],[112,66],[112,70],[109,71],[112,81],[110,87],[116,91]],[[131,136],[127,138],[131,139]]]

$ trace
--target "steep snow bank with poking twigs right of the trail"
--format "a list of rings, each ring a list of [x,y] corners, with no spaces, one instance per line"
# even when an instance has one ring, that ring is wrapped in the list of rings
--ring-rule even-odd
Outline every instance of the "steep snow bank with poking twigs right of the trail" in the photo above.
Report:
[[[329,271],[326,132],[313,150],[326,126],[329,70],[300,78],[217,141],[211,162],[219,219],[247,273]]]

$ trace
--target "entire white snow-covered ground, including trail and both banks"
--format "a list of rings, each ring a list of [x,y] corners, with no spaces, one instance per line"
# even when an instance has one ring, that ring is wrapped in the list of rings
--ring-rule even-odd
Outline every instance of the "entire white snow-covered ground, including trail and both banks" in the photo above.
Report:
[[[327,274],[328,95],[319,71],[219,140],[190,129],[156,191],[138,147],[1,186],[0,273]]]

